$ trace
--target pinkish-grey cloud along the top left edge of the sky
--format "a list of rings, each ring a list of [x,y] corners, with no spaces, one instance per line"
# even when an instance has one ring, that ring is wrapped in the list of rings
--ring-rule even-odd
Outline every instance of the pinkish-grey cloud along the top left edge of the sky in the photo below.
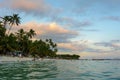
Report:
[[[0,3],[2,8],[10,8],[26,14],[34,14],[35,16],[53,16],[59,10],[47,4],[44,0],[3,0]]]

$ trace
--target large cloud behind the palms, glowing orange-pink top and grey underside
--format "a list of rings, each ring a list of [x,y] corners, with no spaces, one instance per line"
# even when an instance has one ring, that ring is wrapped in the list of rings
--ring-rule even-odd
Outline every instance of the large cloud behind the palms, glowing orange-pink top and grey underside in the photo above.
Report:
[[[16,29],[23,28],[25,30],[33,29],[37,33],[36,39],[53,39],[55,42],[69,42],[72,38],[76,38],[79,34],[76,31],[68,30],[63,28],[57,23],[36,23],[28,22],[22,24],[19,28],[14,27],[13,31]]]

